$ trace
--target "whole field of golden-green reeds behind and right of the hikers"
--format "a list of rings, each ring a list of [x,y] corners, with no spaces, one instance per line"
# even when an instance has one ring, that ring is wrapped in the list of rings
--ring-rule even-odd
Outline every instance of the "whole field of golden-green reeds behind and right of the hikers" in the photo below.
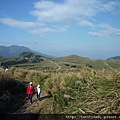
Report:
[[[120,114],[120,71],[93,70],[42,72],[12,67],[9,74],[23,82],[40,84],[52,94],[42,114]]]

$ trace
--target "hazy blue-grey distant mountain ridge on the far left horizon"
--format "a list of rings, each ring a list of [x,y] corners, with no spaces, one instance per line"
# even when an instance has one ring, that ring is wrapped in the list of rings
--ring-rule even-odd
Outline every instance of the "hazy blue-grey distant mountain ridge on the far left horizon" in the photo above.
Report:
[[[44,57],[53,58],[53,56],[42,54],[37,51],[33,51],[29,49],[28,47],[24,47],[24,46],[17,46],[17,45],[0,46],[0,56],[13,57],[13,56],[18,56],[19,54],[23,52],[33,52],[35,54],[38,54]]]

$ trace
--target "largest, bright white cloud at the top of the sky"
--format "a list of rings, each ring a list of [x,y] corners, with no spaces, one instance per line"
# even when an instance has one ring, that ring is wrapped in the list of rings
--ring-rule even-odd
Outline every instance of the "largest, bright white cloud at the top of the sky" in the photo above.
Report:
[[[39,1],[34,4],[35,10],[30,13],[44,22],[68,22],[86,19],[99,12],[113,11],[120,6],[120,2],[106,0],[65,0],[64,3]]]

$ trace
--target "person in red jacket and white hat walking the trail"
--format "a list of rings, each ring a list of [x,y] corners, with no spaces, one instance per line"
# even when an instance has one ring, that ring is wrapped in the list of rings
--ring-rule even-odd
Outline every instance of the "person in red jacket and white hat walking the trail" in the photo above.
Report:
[[[32,97],[33,97],[34,93],[35,93],[34,86],[32,85],[32,82],[30,82],[28,87],[27,87],[27,91],[26,91],[26,94],[28,94],[28,99],[30,100],[30,104],[33,103]]]

